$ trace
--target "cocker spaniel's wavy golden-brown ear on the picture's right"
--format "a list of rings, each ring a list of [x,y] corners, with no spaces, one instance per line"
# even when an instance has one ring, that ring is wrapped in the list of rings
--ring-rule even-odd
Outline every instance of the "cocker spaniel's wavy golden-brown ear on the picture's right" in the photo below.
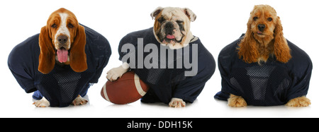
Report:
[[[274,55],[277,61],[287,63],[291,59],[291,54],[282,30],[281,20],[278,16],[274,30]]]

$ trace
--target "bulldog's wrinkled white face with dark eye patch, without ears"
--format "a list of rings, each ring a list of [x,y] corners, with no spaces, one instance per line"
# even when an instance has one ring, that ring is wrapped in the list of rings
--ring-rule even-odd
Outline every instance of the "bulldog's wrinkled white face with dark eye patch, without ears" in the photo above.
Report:
[[[162,44],[181,43],[189,25],[190,20],[181,8],[164,8],[155,18],[155,35]]]

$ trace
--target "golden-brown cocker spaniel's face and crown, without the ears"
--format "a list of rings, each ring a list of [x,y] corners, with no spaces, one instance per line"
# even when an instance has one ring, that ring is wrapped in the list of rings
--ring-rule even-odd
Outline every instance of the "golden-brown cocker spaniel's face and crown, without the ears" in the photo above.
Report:
[[[274,30],[276,25],[276,11],[271,6],[259,5],[255,6],[250,13],[251,30],[254,38],[274,39]]]

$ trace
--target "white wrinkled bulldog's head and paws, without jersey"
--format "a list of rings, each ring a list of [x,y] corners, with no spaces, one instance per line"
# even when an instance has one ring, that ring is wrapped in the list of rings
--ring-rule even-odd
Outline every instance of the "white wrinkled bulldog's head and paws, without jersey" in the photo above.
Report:
[[[156,40],[170,49],[186,47],[192,40],[197,40],[190,30],[190,23],[196,20],[196,15],[189,8],[158,7],[150,16],[155,18],[153,33]],[[112,68],[107,72],[108,80],[117,80],[128,71],[129,65]],[[185,102],[179,98],[172,98],[169,107],[185,107]]]

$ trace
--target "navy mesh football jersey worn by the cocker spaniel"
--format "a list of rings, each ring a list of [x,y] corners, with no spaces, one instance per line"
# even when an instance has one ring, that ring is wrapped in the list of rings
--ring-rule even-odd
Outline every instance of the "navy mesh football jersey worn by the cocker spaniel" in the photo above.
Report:
[[[288,63],[276,61],[274,56],[262,66],[246,64],[237,55],[241,39],[226,46],[218,56],[222,90],[215,98],[227,100],[231,93],[242,96],[248,105],[271,106],[307,95],[313,66],[306,52],[287,40],[292,56]]]

